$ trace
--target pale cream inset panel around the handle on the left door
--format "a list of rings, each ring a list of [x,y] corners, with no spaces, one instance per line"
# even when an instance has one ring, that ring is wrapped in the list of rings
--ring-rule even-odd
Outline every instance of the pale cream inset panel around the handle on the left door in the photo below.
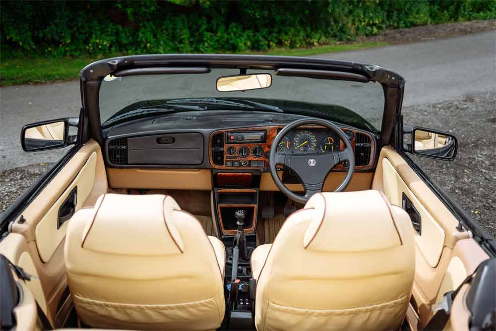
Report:
[[[67,199],[69,193],[77,186],[77,204],[76,211],[81,209],[84,201],[90,195],[93,184],[95,183],[95,170],[96,170],[96,152],[92,152],[88,160],[77,174],[74,181],[65,189],[62,196],[52,205],[48,212],[36,225],[35,242],[40,254],[41,260],[48,262],[57,247],[61,244],[67,231],[66,221],[62,224],[60,229],[57,229],[58,214],[62,203]]]

